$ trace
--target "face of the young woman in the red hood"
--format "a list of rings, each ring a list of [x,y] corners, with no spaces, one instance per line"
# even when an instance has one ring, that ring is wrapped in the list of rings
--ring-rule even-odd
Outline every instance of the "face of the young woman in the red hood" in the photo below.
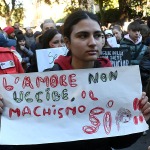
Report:
[[[84,19],[74,25],[67,43],[72,60],[82,63],[95,61],[102,49],[101,34],[101,28],[94,20]]]

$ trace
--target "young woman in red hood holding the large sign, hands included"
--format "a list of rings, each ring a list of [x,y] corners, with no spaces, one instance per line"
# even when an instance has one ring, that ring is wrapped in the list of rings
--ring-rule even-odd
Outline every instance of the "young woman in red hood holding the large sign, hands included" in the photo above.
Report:
[[[106,58],[98,58],[102,48],[102,36],[99,19],[92,13],[86,11],[77,11],[72,13],[64,24],[64,40],[69,50],[70,56],[60,56],[55,65],[50,70],[70,70],[110,67],[111,63]],[[141,111],[148,120],[150,117],[150,104],[145,93],[141,99]],[[1,107],[2,107],[1,103]],[[81,140],[74,142],[63,142],[53,144],[43,144],[37,146],[20,146],[20,149],[53,149],[70,150],[73,147],[83,150],[111,150],[114,148],[124,148],[134,143],[141,133],[118,136],[111,138],[100,138],[92,140]]]

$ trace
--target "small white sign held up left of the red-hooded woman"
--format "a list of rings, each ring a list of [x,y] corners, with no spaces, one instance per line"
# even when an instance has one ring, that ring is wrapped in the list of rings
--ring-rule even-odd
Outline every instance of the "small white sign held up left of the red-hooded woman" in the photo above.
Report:
[[[36,50],[38,72],[43,72],[47,68],[52,68],[54,61],[60,55],[66,55],[66,47],[47,48]]]

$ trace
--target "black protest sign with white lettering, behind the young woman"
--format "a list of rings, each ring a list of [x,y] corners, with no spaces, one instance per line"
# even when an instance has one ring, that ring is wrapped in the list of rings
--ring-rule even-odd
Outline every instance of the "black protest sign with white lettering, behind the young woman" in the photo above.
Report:
[[[100,57],[108,58],[113,67],[115,66],[129,66],[131,64],[130,48],[103,48]]]

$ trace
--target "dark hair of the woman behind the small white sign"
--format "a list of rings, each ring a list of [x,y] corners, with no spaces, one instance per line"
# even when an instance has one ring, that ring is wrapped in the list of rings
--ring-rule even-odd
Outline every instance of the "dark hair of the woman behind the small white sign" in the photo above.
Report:
[[[60,34],[60,32],[57,29],[48,29],[43,35],[42,35],[42,48],[51,48],[49,46],[49,42],[53,39],[53,37],[56,34]]]

